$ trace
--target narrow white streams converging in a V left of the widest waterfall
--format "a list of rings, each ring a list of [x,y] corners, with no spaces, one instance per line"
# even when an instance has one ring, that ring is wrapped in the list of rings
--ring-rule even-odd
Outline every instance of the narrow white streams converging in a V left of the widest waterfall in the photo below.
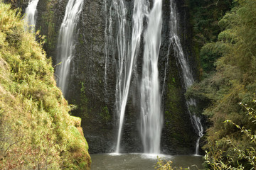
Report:
[[[116,153],[119,153],[120,141],[122,136],[122,126],[124,123],[124,113],[127,106],[129,87],[132,79],[132,71],[136,64],[141,35],[143,30],[143,18],[146,13],[144,0],[134,1],[134,13],[132,23],[132,41],[129,48],[127,45],[126,27],[126,8],[124,2],[113,1],[113,6],[117,11],[119,19],[119,31],[117,35],[118,64],[117,64],[117,86],[116,86],[116,104],[119,115],[119,129],[117,135]]]

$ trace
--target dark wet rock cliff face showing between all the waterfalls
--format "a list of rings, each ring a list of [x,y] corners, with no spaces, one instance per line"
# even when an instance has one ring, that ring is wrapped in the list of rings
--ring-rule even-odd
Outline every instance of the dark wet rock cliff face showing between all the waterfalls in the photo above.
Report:
[[[36,28],[46,35],[44,48],[49,57],[56,60],[56,44],[58,31],[65,14],[68,0],[40,0],[38,3],[38,20]],[[115,106],[116,66],[117,57],[117,16],[112,14],[112,35],[106,52],[106,26],[109,27],[110,8],[112,1],[85,1],[75,46],[75,57],[70,69],[69,91],[65,98],[78,109],[73,115],[82,118],[82,128],[90,145],[90,153],[112,152],[117,140],[117,113]],[[127,37],[131,36],[133,1],[124,1],[127,7]],[[152,3],[151,3],[152,4]],[[180,24],[179,35],[186,55],[188,55],[193,70],[196,70],[196,60],[191,52],[191,28],[188,23],[188,8],[184,1],[176,1]],[[161,86],[164,86],[162,110],[164,113],[164,129],[161,147],[165,153],[192,154],[196,144],[191,120],[186,109],[181,68],[176,62],[174,50],[169,49],[169,18],[170,1],[163,1],[163,29],[161,35],[161,51],[159,56],[159,75]],[[127,40],[128,41],[128,40]],[[143,41],[142,41],[143,42]],[[121,145],[123,152],[142,152],[142,142],[139,137],[139,84],[142,75],[142,51],[134,68],[127,109],[124,120],[124,130]],[[105,65],[106,55],[107,65]],[[166,61],[168,62],[167,69]],[[107,74],[105,74],[107,67]],[[164,77],[166,75],[166,81]]]

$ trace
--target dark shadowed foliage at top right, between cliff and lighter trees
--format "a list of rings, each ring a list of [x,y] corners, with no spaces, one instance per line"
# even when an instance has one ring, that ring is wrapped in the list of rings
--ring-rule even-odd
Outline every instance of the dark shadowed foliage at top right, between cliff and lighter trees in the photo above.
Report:
[[[193,51],[198,60],[200,58],[202,70],[207,73],[212,72],[215,69],[214,62],[221,55],[221,52],[216,50],[220,46],[212,42],[218,40],[221,31],[218,21],[233,6],[232,0],[190,0],[186,4],[190,8],[190,22],[193,26]],[[209,44],[203,47],[207,43]]]

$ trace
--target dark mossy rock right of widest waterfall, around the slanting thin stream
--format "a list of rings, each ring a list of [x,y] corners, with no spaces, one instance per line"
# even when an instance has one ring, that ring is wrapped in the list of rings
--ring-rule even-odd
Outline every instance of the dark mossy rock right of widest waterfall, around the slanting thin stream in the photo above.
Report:
[[[176,1],[178,10],[178,34],[181,38],[185,55],[188,55],[190,47],[189,35],[187,35],[188,8],[183,1]],[[161,136],[161,148],[165,154],[194,154],[196,148],[196,133],[193,130],[190,116],[186,108],[184,97],[183,79],[181,67],[177,64],[174,55],[174,47],[169,42],[170,1],[163,1],[163,28],[162,44],[159,56],[159,74],[162,89],[164,128]],[[169,46],[170,45],[170,46]],[[169,55],[168,55],[169,50]],[[193,61],[192,56],[188,57]],[[167,67],[167,68],[166,68]],[[165,70],[166,69],[166,70]],[[164,76],[166,81],[164,82]]]

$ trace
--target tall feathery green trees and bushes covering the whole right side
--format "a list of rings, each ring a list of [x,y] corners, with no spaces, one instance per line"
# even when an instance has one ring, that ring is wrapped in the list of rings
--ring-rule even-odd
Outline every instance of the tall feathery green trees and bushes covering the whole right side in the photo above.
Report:
[[[209,168],[255,169],[256,1],[234,0],[218,26],[218,38],[201,48],[206,77],[186,95],[201,101],[212,124],[204,146]]]

